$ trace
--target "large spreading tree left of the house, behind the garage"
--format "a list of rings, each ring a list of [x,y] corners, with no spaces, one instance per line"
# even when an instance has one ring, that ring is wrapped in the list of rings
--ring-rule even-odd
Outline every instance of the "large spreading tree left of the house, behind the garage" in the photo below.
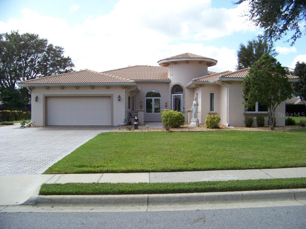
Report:
[[[37,34],[18,31],[0,34],[0,96],[18,94],[24,103],[29,94],[27,89],[17,88],[19,81],[73,71],[71,58],[63,53],[62,47],[48,44],[47,39]],[[2,92],[4,89],[15,92]]]

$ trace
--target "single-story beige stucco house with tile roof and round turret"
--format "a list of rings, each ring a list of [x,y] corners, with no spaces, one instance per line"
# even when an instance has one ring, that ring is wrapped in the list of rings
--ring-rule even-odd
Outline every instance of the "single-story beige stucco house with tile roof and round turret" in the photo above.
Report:
[[[82,70],[18,85],[32,93],[33,125],[119,125],[135,114],[141,123],[161,121],[165,102],[168,109],[187,115],[194,97],[199,101],[200,123],[211,114],[220,115],[220,124],[230,126],[244,126],[245,116],[267,119],[265,106],[244,108],[241,83],[248,68],[211,72],[208,67],[217,60],[192,53],[162,59],[158,64],[104,72]],[[298,81],[296,76],[288,78]],[[285,113],[285,102],[277,107],[278,112]],[[285,125],[285,117],[276,118],[277,125]]]

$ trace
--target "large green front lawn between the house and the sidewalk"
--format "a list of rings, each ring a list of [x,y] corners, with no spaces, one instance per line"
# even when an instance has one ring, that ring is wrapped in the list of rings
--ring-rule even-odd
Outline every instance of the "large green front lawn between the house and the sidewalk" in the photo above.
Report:
[[[306,129],[101,133],[45,174],[303,167],[305,139]]]

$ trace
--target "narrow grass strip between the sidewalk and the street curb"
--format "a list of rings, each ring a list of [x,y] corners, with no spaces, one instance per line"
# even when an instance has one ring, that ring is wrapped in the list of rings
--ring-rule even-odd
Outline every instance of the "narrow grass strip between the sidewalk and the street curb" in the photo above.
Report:
[[[306,188],[306,178],[202,181],[186,183],[43,184],[40,195],[166,194]]]

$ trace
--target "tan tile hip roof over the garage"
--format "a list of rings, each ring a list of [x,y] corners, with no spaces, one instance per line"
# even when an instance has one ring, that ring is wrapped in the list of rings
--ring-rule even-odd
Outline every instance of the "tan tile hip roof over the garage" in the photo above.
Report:
[[[91,70],[81,70],[63,73],[59,75],[51,75],[37,79],[31,79],[19,82],[18,84],[61,84],[61,83],[133,83],[135,81],[110,75],[99,73]]]

